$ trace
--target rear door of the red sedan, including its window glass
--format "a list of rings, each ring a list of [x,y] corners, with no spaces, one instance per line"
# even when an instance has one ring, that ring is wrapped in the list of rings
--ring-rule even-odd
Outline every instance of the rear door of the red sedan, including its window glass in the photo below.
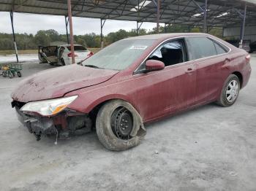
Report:
[[[229,61],[227,50],[206,36],[186,37],[189,61],[196,65],[196,103],[214,101],[222,87],[222,66]]]

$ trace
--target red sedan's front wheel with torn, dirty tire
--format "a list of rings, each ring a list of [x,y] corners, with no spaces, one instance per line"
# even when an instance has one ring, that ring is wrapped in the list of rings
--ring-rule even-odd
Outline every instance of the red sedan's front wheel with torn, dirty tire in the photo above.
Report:
[[[137,146],[146,135],[140,114],[121,100],[109,101],[99,109],[96,130],[103,146],[115,151]]]

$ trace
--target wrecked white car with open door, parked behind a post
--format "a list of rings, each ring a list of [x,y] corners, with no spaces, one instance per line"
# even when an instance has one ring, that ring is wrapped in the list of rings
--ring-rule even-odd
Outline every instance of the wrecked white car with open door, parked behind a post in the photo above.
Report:
[[[86,47],[79,44],[74,45],[74,50],[75,63],[79,63],[80,61],[83,61],[93,55],[93,52],[87,50]],[[47,47],[39,46],[38,57],[41,63],[57,64],[61,66],[72,63],[71,47],[69,44]]]

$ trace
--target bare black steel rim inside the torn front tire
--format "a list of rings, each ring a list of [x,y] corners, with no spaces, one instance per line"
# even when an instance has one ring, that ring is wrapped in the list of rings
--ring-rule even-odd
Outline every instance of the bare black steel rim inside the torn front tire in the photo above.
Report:
[[[118,139],[128,140],[132,131],[132,114],[123,106],[118,107],[111,116],[111,128]]]

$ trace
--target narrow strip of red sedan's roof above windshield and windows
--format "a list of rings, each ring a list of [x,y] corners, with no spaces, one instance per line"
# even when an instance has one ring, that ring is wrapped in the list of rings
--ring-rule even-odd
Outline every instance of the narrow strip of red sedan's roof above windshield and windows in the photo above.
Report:
[[[204,33],[170,33],[170,34],[149,34],[143,36],[133,36],[127,39],[144,39],[144,40],[159,40],[159,39],[169,39],[178,36],[209,36]]]

